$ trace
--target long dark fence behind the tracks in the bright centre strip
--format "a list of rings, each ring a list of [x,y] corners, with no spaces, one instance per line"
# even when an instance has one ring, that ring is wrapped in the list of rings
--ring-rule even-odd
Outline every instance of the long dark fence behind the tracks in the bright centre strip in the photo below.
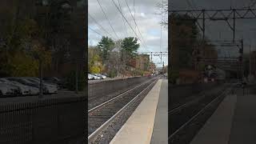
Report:
[[[110,81],[88,83],[88,96],[111,94],[116,91],[126,90],[127,87],[138,85],[152,77],[122,78]]]

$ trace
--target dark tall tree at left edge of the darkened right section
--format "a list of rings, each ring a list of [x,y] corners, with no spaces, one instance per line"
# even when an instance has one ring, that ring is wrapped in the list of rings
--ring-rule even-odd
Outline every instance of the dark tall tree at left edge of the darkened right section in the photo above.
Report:
[[[191,69],[193,68],[192,53],[198,42],[198,27],[194,21],[184,20],[189,18],[188,15],[172,15],[170,18],[172,69]]]

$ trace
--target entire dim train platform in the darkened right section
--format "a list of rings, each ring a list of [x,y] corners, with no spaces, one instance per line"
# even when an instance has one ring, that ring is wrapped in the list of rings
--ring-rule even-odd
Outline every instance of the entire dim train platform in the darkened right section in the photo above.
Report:
[[[227,95],[190,144],[256,143],[256,94]]]

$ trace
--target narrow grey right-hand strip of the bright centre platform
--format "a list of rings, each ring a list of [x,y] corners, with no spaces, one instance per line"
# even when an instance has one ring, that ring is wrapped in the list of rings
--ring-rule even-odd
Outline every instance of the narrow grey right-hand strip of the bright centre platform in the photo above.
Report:
[[[168,80],[162,80],[150,144],[168,143]]]

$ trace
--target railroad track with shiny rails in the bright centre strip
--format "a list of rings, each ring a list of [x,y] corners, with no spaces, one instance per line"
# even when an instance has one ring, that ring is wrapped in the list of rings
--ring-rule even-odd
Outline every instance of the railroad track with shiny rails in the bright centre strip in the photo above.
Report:
[[[145,96],[157,81],[158,78],[153,78],[88,110],[88,142],[94,142],[119,114],[139,97]]]

